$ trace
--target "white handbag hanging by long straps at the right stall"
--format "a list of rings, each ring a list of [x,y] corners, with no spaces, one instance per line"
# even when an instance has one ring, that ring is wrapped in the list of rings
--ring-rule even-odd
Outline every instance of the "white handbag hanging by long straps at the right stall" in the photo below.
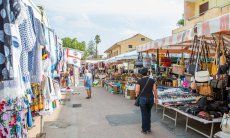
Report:
[[[200,47],[203,48],[202,41],[200,41]],[[200,52],[199,49],[198,49],[198,53]],[[197,82],[207,82],[207,81],[210,81],[210,75],[209,75],[208,69],[206,71],[198,71],[198,62],[199,61],[200,61],[200,54],[198,54],[198,58],[197,58],[197,62],[196,62],[195,80]],[[205,62],[207,63],[206,56],[205,56]]]

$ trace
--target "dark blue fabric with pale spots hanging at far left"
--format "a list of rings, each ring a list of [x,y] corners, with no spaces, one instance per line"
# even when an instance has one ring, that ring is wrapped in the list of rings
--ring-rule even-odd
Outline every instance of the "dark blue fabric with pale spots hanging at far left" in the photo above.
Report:
[[[14,77],[11,24],[16,21],[21,6],[19,0],[0,0],[0,9],[0,80],[10,80]]]

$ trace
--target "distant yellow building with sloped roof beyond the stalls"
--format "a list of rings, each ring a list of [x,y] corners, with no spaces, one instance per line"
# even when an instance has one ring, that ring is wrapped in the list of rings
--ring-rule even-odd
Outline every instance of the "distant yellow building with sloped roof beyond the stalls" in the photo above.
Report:
[[[105,53],[107,54],[108,58],[111,58],[123,53],[133,51],[136,49],[136,46],[148,43],[150,41],[152,41],[150,38],[142,34],[136,34],[133,37],[117,42],[109,49],[107,49]]]

